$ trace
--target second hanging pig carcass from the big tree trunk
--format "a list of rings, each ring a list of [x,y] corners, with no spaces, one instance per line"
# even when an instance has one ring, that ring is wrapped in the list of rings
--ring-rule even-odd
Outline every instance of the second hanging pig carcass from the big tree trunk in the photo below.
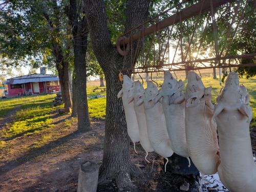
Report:
[[[150,139],[148,138],[148,134],[147,134],[146,116],[145,116],[144,106],[143,106],[143,104],[136,105],[136,103],[138,103],[138,100],[140,100],[144,97],[145,90],[139,80],[133,82],[133,87],[134,87],[133,96],[129,100],[134,101],[134,103],[135,103],[134,110],[135,110],[135,114],[136,114],[137,121],[138,121],[138,128],[139,128],[139,133],[140,133],[140,144],[141,144],[142,148],[144,149],[144,151],[146,152],[145,160],[149,163],[149,161],[146,159],[146,157],[148,155],[148,152],[153,152],[154,149],[150,143]]]

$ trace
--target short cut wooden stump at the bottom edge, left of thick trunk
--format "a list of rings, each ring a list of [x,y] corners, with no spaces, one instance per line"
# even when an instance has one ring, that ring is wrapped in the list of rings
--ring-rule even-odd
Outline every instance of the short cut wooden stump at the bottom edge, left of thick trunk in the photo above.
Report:
[[[98,164],[88,161],[80,165],[77,192],[96,192],[98,175]]]

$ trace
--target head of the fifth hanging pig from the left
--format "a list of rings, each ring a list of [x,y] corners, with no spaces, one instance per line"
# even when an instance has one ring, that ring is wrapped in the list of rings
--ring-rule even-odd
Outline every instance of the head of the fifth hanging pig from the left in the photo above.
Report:
[[[205,87],[201,78],[194,71],[188,71],[188,80],[186,86],[186,107],[194,107],[200,103],[204,96]]]

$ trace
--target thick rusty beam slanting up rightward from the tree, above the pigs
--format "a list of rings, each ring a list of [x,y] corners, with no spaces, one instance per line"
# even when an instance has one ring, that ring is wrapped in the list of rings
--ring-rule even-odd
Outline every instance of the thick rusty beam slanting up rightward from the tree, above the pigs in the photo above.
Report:
[[[226,4],[228,2],[232,2],[232,1],[234,1],[234,0],[202,0],[201,2],[191,5],[190,7],[185,8],[185,9],[181,10],[180,12],[175,13],[172,16],[169,16],[169,17],[161,20],[157,24],[154,24],[148,28],[145,28],[142,31],[135,33],[130,37],[127,37],[127,38],[126,37],[124,38],[123,36],[118,37],[117,47],[119,47],[119,46],[123,47],[132,41],[136,41],[136,40],[140,39],[141,37],[150,35],[150,34],[154,33],[156,31],[156,29],[162,30],[162,29],[169,27],[173,24],[179,23],[180,20],[185,20],[187,18],[196,16],[199,14],[201,8],[202,8],[202,13],[209,11],[211,8],[211,5],[210,5],[211,3],[212,3],[212,7],[216,8],[216,7],[219,7],[221,5],[224,5],[224,4]],[[129,32],[127,32],[127,33],[129,33]]]

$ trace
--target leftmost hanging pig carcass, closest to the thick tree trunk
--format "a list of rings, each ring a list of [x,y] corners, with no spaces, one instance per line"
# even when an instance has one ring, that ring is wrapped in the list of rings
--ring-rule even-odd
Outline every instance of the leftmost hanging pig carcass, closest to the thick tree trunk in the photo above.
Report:
[[[136,114],[134,111],[134,102],[131,102],[131,99],[133,98],[133,90],[134,87],[131,78],[127,75],[123,75],[122,89],[117,94],[117,97],[122,97],[125,119],[127,124],[127,132],[134,143],[134,150],[136,152],[135,142],[140,141],[140,134]]]

